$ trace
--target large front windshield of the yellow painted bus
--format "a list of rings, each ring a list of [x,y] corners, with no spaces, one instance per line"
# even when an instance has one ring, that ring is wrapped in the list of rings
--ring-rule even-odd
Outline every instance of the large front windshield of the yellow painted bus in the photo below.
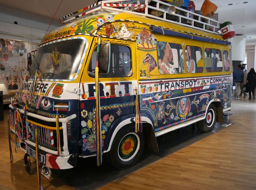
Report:
[[[41,79],[73,79],[77,74],[85,45],[85,40],[72,39],[39,47],[28,77],[33,78],[39,67],[37,74],[41,75]]]

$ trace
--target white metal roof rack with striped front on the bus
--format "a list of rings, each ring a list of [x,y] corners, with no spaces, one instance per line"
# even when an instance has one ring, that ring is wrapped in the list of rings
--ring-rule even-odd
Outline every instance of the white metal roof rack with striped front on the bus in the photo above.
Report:
[[[67,24],[78,19],[100,13],[127,12],[161,21],[180,24],[214,34],[221,34],[219,29],[220,22],[159,0],[127,0],[122,1],[122,3],[120,2],[120,0],[103,0],[61,17],[60,22],[62,24]],[[125,4],[125,2],[133,3]],[[140,4],[140,2],[144,2],[144,4]],[[176,11],[174,14],[169,14],[168,8],[173,8],[172,6],[176,8]]]

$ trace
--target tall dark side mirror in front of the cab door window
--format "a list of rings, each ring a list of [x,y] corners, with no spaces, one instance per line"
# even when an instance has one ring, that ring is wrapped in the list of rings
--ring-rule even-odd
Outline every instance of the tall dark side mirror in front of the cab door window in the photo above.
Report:
[[[101,43],[99,52],[99,74],[108,74],[110,71],[110,43]]]

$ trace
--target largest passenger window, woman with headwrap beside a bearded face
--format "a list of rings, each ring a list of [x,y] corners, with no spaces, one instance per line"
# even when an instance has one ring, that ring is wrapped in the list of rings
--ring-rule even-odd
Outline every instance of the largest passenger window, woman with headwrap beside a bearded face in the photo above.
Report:
[[[183,51],[180,44],[158,41],[158,69],[161,74],[184,72]]]

